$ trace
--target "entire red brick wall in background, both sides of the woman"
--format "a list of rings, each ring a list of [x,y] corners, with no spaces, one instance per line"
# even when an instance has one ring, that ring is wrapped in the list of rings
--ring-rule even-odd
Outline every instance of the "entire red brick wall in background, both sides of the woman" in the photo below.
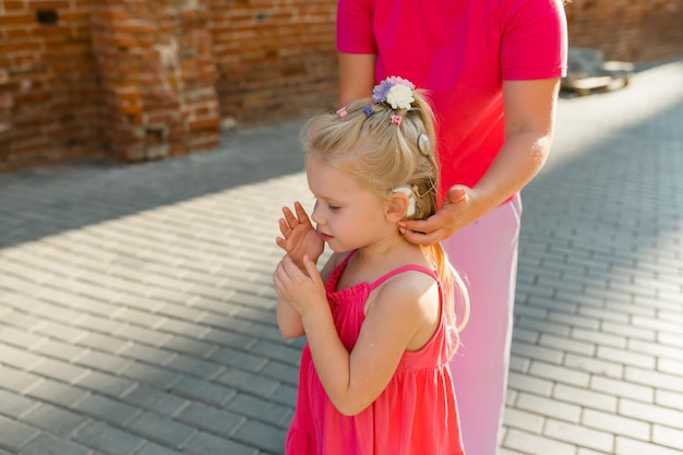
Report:
[[[0,0],[0,171],[214,149],[336,99],[335,0]],[[683,0],[573,0],[570,45],[683,57]]]

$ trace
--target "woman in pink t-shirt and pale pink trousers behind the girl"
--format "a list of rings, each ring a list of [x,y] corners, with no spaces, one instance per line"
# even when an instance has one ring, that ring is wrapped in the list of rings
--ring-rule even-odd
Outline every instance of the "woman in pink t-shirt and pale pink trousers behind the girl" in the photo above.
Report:
[[[443,241],[469,282],[470,319],[451,363],[465,450],[493,455],[512,337],[519,192],[552,143],[566,72],[561,0],[339,0],[339,101],[402,74],[431,92],[440,125],[440,211],[402,224]],[[459,391],[463,391],[462,393]]]

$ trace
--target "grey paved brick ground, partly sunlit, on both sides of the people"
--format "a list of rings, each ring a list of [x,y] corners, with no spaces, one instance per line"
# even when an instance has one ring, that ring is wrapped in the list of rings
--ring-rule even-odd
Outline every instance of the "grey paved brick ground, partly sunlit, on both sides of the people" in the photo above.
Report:
[[[501,455],[683,452],[683,61],[562,99],[523,193]],[[0,455],[278,455],[299,121],[135,167],[0,176]]]

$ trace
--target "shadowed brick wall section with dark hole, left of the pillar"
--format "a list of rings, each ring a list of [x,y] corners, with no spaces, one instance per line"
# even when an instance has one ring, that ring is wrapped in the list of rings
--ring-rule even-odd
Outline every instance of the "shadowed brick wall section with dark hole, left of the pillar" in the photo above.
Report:
[[[91,0],[0,0],[0,170],[99,153]]]

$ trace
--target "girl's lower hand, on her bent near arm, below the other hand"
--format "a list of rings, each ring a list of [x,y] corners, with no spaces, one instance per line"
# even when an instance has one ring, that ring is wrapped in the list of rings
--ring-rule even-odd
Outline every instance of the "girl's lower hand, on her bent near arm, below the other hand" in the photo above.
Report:
[[[325,285],[308,255],[303,256],[304,271],[301,271],[289,255],[286,255],[273,274],[275,291],[303,318],[321,309],[328,309]]]

